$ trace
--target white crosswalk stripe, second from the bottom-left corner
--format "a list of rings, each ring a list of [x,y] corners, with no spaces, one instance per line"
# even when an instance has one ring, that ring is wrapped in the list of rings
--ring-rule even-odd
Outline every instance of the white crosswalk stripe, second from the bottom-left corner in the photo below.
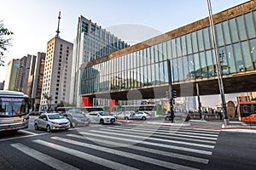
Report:
[[[84,160],[91,161],[91,162],[94,162],[96,164],[99,164],[99,165],[102,165],[104,167],[108,167],[108,168],[111,168],[111,169],[131,169],[131,170],[137,169],[135,167],[125,166],[123,164],[120,164],[120,163],[117,163],[117,162],[114,162],[114,161],[109,161],[107,159],[103,159],[103,158],[98,157],[98,156],[92,156],[90,154],[81,152],[79,150],[73,150],[73,149],[58,145],[58,144],[45,142],[44,140],[36,139],[36,140],[33,140],[33,142],[35,142],[37,144],[42,144],[42,145],[48,146],[49,148],[53,148],[55,150],[60,150],[62,152],[66,152],[67,154],[77,156],[77,157],[82,158]]]

